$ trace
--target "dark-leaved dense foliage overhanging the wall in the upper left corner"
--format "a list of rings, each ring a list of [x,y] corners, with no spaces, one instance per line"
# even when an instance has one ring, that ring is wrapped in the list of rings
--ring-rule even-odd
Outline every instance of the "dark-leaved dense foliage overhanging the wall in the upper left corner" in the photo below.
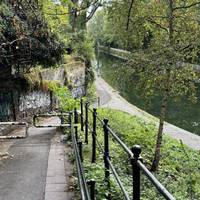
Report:
[[[35,0],[0,3],[0,69],[11,74],[29,71],[38,64],[55,65],[63,43],[51,32]]]

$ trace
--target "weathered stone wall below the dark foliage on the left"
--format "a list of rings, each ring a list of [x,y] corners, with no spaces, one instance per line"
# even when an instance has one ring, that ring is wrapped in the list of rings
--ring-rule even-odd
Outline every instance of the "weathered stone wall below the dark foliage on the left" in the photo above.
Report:
[[[71,62],[56,69],[43,70],[41,76],[43,80],[58,81],[61,85],[66,85],[76,98],[85,95],[85,66],[82,61]],[[12,94],[14,94],[14,99],[10,102],[9,112],[6,111],[12,113],[6,121],[16,119],[17,121],[26,120],[31,123],[34,114],[50,111],[53,104],[56,103],[49,91],[34,90],[21,93],[12,90]],[[54,107],[56,107],[55,104]],[[0,127],[0,135],[7,133],[7,129],[8,127]]]

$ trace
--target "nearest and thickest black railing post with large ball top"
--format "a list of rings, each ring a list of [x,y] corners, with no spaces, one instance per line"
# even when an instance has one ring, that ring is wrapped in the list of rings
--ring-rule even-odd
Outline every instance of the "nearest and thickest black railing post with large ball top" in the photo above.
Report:
[[[133,200],[140,200],[140,167],[137,162],[140,159],[141,147],[135,145],[131,148],[134,155],[131,158],[132,174],[133,174]]]

